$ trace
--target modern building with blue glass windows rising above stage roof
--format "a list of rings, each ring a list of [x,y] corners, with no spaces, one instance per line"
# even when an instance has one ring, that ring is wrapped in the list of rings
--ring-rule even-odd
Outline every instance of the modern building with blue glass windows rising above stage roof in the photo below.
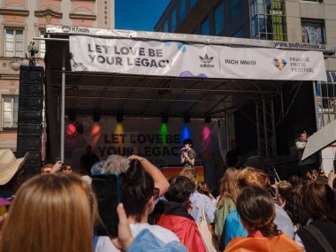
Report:
[[[172,0],[157,32],[336,44],[334,0]]]

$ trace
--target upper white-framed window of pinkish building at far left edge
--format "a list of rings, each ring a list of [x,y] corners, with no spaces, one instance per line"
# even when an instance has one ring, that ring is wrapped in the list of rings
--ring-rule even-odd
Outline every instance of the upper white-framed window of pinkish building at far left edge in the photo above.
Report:
[[[5,57],[23,57],[23,29],[4,29]]]

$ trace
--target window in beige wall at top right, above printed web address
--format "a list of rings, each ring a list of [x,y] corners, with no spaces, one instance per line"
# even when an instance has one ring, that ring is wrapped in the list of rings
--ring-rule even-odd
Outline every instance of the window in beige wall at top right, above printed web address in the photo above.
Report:
[[[325,44],[325,22],[302,19],[302,42]]]

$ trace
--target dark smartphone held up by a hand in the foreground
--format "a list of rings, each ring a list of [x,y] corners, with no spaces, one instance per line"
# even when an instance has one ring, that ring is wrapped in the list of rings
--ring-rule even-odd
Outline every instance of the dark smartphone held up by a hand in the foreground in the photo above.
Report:
[[[95,174],[92,176],[92,189],[98,202],[101,221],[95,224],[95,235],[118,236],[117,206],[120,202],[118,174]]]

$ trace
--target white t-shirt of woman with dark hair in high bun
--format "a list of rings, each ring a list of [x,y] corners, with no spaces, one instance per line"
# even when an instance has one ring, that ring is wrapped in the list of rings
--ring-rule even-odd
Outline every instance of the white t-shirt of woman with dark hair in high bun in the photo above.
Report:
[[[131,233],[135,237],[143,229],[148,229],[150,233],[157,236],[158,239],[168,243],[171,241],[179,241],[179,238],[172,231],[160,226],[160,225],[149,225],[148,223],[134,223],[130,224]],[[118,252],[118,248],[114,247],[110,237],[100,236],[95,247],[95,252]]]

